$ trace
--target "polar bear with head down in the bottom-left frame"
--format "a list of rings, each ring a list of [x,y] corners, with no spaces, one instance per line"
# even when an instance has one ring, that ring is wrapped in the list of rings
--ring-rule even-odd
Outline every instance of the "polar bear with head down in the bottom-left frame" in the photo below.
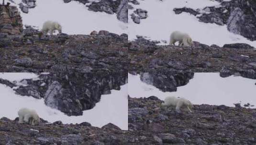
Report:
[[[22,108],[18,111],[19,115],[19,123],[22,124],[23,122],[29,123],[31,125],[39,124],[40,118],[35,110],[30,110],[28,108]]]

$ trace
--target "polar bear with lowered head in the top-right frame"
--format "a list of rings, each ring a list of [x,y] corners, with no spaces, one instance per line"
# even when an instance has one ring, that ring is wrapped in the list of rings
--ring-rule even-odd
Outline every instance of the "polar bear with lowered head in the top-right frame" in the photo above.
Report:
[[[182,33],[180,31],[174,31],[171,33],[170,36],[170,43],[169,45],[175,45],[175,42],[179,42],[178,46],[184,45],[184,46],[191,46],[192,45],[192,39],[187,33]]]

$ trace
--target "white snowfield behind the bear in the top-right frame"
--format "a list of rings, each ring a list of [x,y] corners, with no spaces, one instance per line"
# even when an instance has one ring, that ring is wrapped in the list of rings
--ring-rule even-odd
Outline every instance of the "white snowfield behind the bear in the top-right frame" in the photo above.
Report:
[[[188,33],[193,41],[199,41],[207,45],[217,44],[223,46],[228,43],[248,43],[256,47],[256,41],[249,41],[241,35],[231,33],[227,26],[204,23],[189,13],[182,12],[175,14],[174,8],[202,9],[206,6],[220,7],[220,3],[211,0],[138,0],[139,5],[133,5],[134,10],[143,9],[148,11],[148,18],[136,24],[131,19],[130,14],[134,10],[129,10],[128,35],[129,40],[136,39],[136,35],[149,37],[151,40],[166,40],[173,31]],[[226,0],[227,1],[227,0]],[[167,45],[161,43],[161,45]]]

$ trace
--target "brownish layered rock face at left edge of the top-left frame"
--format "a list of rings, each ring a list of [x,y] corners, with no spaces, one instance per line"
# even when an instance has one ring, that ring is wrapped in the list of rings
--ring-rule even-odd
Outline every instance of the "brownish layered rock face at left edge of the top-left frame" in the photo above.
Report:
[[[22,30],[22,17],[18,9],[15,6],[0,5],[0,33],[18,35]]]

